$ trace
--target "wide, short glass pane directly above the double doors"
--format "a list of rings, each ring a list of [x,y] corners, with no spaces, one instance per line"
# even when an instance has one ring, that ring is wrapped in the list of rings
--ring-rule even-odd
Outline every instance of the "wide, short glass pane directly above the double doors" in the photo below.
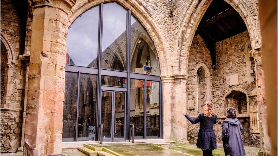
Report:
[[[115,76],[101,76],[101,85],[126,87],[126,78]]]

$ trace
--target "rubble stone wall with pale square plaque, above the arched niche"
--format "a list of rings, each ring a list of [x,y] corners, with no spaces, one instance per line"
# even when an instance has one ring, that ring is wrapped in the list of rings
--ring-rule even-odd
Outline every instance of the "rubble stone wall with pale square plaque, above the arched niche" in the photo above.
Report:
[[[244,48],[248,39],[249,34],[245,31],[216,43],[217,69],[213,77],[212,88],[215,92],[213,101],[217,105],[218,116],[225,115],[225,94],[235,88],[240,88],[248,94],[246,77],[252,76],[255,79],[254,75],[246,75],[246,71],[244,71],[246,67]],[[253,63],[251,66],[254,69]],[[235,82],[237,80],[238,82]]]

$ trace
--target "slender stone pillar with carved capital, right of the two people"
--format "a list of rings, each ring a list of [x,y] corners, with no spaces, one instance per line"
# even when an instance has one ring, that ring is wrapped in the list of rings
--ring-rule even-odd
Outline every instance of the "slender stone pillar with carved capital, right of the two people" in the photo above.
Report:
[[[260,142],[261,150],[263,152],[270,149],[270,140],[267,133],[267,107],[265,99],[265,80],[264,72],[262,68],[261,61],[261,49],[253,49],[250,51],[252,57],[254,57],[255,62],[255,74],[256,74],[256,83],[257,83],[257,104],[259,109],[259,128],[260,128]]]

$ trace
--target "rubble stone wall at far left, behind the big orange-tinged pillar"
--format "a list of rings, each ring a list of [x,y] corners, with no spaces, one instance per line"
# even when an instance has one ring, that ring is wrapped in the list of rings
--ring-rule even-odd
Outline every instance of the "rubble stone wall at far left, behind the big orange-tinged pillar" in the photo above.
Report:
[[[21,143],[22,111],[15,111],[23,108],[26,75],[25,65],[18,57],[20,31],[15,7],[10,0],[1,0],[1,34],[11,44],[15,56],[12,64],[8,65],[6,101],[1,105],[4,108],[1,109],[1,153],[16,152]]]

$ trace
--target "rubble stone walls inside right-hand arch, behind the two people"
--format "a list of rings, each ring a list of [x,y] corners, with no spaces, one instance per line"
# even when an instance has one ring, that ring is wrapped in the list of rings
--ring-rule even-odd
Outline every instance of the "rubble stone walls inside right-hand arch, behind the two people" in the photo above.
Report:
[[[246,41],[248,40],[248,32],[240,33],[231,38],[225,39],[216,43],[216,64],[217,69],[211,69],[211,58],[207,46],[201,36],[197,35],[192,41],[190,55],[189,55],[189,63],[188,63],[188,72],[189,78],[187,80],[187,113],[191,116],[197,117],[199,112],[196,111],[195,107],[190,106],[190,100],[192,100],[191,94],[193,94],[196,99],[196,80],[195,80],[195,70],[198,68],[200,63],[204,63],[209,69],[209,73],[211,76],[211,87],[212,87],[212,99],[211,101],[214,103],[215,112],[217,112],[217,116],[220,117],[217,119],[216,125],[214,125],[214,132],[216,134],[217,142],[221,143],[221,132],[222,132],[222,124],[221,122],[225,117],[225,103],[224,96],[227,92],[234,88],[240,88],[245,92],[248,92],[248,82],[246,82],[246,71],[244,71],[244,67],[246,66],[246,62],[244,61],[245,51],[244,47]],[[251,57],[251,56],[250,56]],[[254,63],[251,64],[251,68],[254,69]],[[199,68],[198,68],[199,69]],[[199,72],[200,74],[202,72]],[[198,74],[198,71],[197,71]],[[203,73],[205,74],[205,73]],[[238,74],[238,84],[230,85],[230,75]],[[254,74],[250,74],[251,77],[254,77]],[[204,83],[201,81],[201,85]],[[199,83],[200,84],[200,83]],[[202,85],[203,86],[203,85]],[[204,87],[203,87],[204,88]],[[203,89],[201,88],[201,90]],[[201,104],[209,100],[204,94],[207,94],[204,91],[199,92],[201,94]],[[202,95],[203,94],[203,95]],[[250,99],[254,101],[253,99]],[[196,101],[196,100],[195,100]],[[193,105],[195,105],[194,103]],[[237,108],[237,105],[234,106]],[[246,106],[240,107],[242,111],[247,113]],[[201,112],[201,107],[199,108]],[[242,134],[243,141],[245,145],[254,145],[259,146],[259,134],[251,133],[250,130],[250,118],[239,118],[242,126],[244,127],[244,132]],[[187,121],[187,139],[190,143],[195,143],[197,141],[199,124],[191,124]]]

